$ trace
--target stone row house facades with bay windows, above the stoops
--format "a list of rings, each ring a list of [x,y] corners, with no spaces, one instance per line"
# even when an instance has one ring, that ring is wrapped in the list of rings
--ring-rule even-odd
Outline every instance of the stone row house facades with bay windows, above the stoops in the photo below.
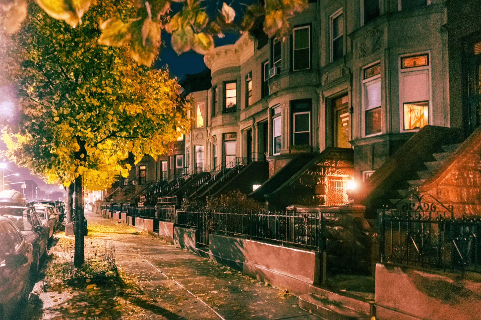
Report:
[[[290,37],[260,25],[216,48],[212,87],[191,93],[186,166],[263,158],[272,176],[299,153],[352,148],[362,182],[423,126],[462,127],[446,19],[441,0],[319,1],[290,18]]]

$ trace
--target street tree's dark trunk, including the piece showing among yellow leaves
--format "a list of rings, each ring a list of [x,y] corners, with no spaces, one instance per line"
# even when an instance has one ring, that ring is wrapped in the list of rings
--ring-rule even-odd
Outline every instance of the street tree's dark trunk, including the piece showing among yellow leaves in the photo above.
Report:
[[[85,150],[85,141],[76,136],[77,144],[80,146],[75,153],[75,159],[78,160],[79,165],[83,165],[87,152]],[[84,184],[83,176],[78,175],[75,178],[75,251],[74,251],[74,266],[80,268],[85,262],[84,256]]]

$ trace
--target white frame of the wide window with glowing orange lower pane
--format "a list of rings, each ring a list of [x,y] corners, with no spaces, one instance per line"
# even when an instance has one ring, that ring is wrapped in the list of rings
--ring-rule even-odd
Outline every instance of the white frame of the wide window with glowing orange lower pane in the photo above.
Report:
[[[420,67],[413,67],[413,68],[406,68],[406,69],[401,69],[401,59],[404,57],[412,57],[412,56],[417,56],[417,55],[428,55],[428,65],[423,65]],[[398,70],[399,70],[399,75],[398,75],[398,81],[399,81],[399,127],[400,127],[400,132],[418,132],[419,129],[412,129],[412,130],[405,130],[404,129],[404,103],[405,101],[402,100],[401,97],[404,96],[404,90],[403,90],[403,84],[401,81],[401,75],[404,73],[408,72],[416,72],[416,71],[428,71],[428,124],[432,125],[432,74],[431,74],[431,53],[429,51],[422,51],[422,52],[414,52],[414,53],[406,53],[402,54],[398,58]],[[406,101],[406,102],[415,102],[415,101]]]

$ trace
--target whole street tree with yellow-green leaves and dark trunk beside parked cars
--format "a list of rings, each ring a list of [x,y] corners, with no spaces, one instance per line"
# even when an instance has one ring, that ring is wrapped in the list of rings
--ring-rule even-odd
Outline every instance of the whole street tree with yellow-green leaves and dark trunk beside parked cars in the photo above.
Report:
[[[99,0],[71,28],[32,2],[21,30],[0,39],[0,81],[18,98],[18,111],[4,119],[4,156],[48,182],[75,181],[76,266],[84,262],[83,184],[110,187],[127,176],[129,153],[156,157],[189,128],[190,104],[167,71],[139,66],[129,47],[98,44],[99,21],[128,20],[136,10]]]

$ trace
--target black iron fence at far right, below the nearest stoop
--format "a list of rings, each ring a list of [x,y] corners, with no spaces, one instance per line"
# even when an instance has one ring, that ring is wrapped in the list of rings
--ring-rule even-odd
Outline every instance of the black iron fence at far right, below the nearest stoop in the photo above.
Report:
[[[481,219],[451,211],[386,210],[380,214],[380,259],[421,268],[481,272]]]

